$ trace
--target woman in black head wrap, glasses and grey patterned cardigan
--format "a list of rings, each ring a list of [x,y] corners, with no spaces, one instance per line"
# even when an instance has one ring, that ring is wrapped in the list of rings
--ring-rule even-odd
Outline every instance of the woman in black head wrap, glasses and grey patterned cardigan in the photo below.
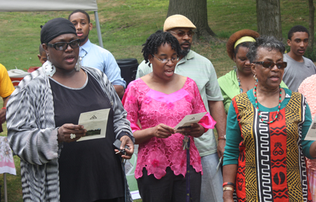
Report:
[[[48,61],[20,82],[7,106],[23,200],[124,201],[129,197],[121,158],[131,158],[134,139],[114,87],[98,69],[81,67],[80,41],[70,21],[48,21],[41,43]],[[80,114],[99,109],[109,109],[105,137],[77,142],[86,135]],[[121,149],[129,146],[121,158],[114,152],[116,139]]]

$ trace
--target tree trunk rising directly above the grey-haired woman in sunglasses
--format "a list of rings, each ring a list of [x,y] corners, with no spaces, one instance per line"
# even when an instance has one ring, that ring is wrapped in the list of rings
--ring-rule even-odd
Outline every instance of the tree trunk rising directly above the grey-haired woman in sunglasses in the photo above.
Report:
[[[257,27],[261,35],[282,39],[281,9],[279,0],[256,0]]]

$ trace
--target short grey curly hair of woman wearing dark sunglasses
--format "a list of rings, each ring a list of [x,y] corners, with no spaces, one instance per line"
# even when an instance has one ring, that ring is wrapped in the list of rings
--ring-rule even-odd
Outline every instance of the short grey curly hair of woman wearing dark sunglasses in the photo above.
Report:
[[[281,41],[277,40],[275,36],[260,36],[258,39],[256,39],[256,42],[254,42],[253,45],[249,48],[249,51],[247,53],[247,58],[249,59],[250,63],[253,63],[258,59],[259,48],[265,48],[269,51],[277,50],[282,53],[282,55],[285,51],[284,44]]]

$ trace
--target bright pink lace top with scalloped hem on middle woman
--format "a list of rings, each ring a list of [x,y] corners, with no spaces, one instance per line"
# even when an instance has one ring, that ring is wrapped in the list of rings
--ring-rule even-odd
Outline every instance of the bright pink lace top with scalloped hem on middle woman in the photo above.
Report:
[[[137,79],[129,84],[122,102],[133,132],[141,130],[137,124],[138,119],[143,129],[159,123],[175,127],[188,114],[206,112],[199,89],[190,78],[187,78],[183,88],[169,95],[152,90],[143,80]],[[199,123],[204,128],[214,128],[216,121],[207,113]],[[154,177],[161,179],[166,175],[168,166],[175,175],[185,176],[187,163],[186,152],[182,147],[183,138],[183,135],[176,133],[168,138],[152,137],[140,144],[136,179],[143,176],[143,168],[147,169],[148,175],[154,174]],[[190,137],[190,165],[197,172],[202,172],[201,157],[193,139]]]

